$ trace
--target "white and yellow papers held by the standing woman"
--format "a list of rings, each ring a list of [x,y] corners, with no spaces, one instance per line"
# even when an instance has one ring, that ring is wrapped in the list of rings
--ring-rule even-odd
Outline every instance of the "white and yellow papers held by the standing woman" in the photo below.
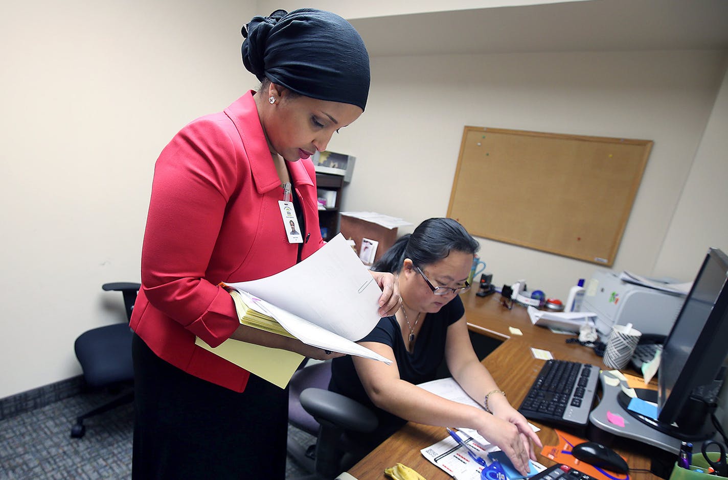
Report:
[[[381,289],[339,233],[306,260],[264,279],[228,284],[307,345],[391,364],[355,343],[379,322]],[[303,356],[229,339],[197,345],[285,388]]]

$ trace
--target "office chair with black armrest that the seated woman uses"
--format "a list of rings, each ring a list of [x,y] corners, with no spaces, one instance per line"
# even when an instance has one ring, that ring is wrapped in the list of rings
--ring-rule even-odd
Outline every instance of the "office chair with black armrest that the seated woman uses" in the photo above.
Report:
[[[369,433],[378,425],[370,409],[346,396],[328,391],[331,361],[298,369],[290,379],[288,423],[317,436],[315,446],[304,449],[288,439],[288,453],[310,475],[297,480],[331,480],[359,460],[344,430]]]

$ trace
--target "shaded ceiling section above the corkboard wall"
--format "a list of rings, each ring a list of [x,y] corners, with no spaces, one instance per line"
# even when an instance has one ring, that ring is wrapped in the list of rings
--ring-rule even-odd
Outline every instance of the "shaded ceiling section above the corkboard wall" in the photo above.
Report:
[[[372,57],[728,49],[728,0],[592,0],[350,22]]]

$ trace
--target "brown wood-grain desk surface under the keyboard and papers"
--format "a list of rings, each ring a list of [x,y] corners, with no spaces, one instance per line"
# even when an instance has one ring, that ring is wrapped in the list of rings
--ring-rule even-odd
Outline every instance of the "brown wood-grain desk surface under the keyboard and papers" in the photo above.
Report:
[[[462,300],[471,330],[505,340],[493,353],[483,359],[483,364],[488,367],[498,386],[507,393],[510,404],[514,407],[518,407],[526,397],[531,383],[543,365],[542,360],[534,359],[531,355],[532,346],[550,351],[555,359],[580,361],[606,368],[602,364],[601,358],[589,348],[577,343],[565,343],[564,340],[567,337],[564,335],[553,334],[542,327],[534,327],[526,313],[526,308],[513,305],[513,309],[509,311],[500,304],[500,295],[497,293],[481,298],[476,297],[475,289],[472,289],[462,296]],[[510,336],[508,327],[521,329],[523,336]],[[544,445],[559,443],[553,428],[538,422],[532,423],[542,429],[538,435]],[[363,460],[349,468],[349,473],[359,480],[387,479],[384,469],[400,462],[414,468],[427,480],[451,479],[447,473],[432,465],[419,452],[420,449],[442,440],[446,434],[442,427],[410,422],[376,447]],[[627,459],[630,468],[649,470],[648,457],[632,450],[620,449],[618,446],[615,446],[614,449]],[[540,455],[538,448],[537,454],[539,463],[547,466],[554,464],[553,460]],[[632,472],[630,477],[633,479],[654,478],[652,474],[642,472]]]

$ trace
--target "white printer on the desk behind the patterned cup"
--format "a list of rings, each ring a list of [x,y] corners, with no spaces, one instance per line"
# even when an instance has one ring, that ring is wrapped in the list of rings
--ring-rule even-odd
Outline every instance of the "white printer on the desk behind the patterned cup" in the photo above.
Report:
[[[642,334],[668,335],[684,301],[684,295],[628,283],[612,271],[597,271],[585,285],[581,311],[596,314],[596,329],[605,339],[612,325],[626,324]]]

